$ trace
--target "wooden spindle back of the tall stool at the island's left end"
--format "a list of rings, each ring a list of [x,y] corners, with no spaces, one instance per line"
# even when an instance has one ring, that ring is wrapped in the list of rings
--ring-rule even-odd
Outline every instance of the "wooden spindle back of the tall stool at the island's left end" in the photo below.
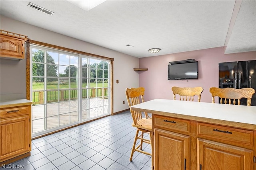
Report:
[[[142,120],[142,113],[140,111],[134,111],[131,110],[131,106],[134,106],[136,104],[140,104],[140,102],[144,102],[144,87],[139,88],[126,88],[125,94],[126,99],[130,108],[130,112],[132,114],[132,119],[134,122],[134,125],[138,125],[138,121]],[[148,118],[148,114],[145,113],[145,117]]]

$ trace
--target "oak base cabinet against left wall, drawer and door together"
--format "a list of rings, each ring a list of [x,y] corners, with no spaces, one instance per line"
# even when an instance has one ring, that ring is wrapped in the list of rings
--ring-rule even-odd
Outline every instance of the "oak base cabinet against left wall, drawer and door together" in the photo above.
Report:
[[[10,107],[1,106],[0,160],[14,162],[30,155],[31,104]]]

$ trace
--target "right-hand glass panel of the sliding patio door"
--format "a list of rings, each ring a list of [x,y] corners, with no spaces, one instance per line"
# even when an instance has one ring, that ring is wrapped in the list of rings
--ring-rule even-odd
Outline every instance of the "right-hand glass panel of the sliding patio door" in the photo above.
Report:
[[[110,114],[110,62],[82,56],[82,121]]]

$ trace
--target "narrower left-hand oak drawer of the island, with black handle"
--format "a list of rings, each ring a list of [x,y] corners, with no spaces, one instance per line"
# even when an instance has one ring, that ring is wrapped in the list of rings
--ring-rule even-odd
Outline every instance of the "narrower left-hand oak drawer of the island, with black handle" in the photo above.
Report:
[[[154,116],[154,125],[165,127],[170,130],[190,132],[190,121],[165,116]]]

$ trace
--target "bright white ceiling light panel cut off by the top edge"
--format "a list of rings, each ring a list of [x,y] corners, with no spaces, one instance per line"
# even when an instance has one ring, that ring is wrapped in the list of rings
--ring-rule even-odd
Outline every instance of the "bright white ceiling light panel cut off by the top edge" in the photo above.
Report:
[[[78,6],[79,8],[89,11],[95,6],[100,5],[102,2],[106,0],[68,0],[68,2]]]

